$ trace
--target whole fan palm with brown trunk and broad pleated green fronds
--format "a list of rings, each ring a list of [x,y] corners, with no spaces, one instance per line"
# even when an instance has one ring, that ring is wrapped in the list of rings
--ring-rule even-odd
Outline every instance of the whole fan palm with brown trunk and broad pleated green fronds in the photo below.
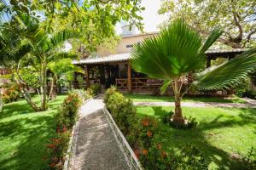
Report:
[[[191,87],[199,90],[228,88],[256,67],[256,48],[237,56],[235,59],[205,70],[206,54],[223,31],[213,29],[202,43],[201,36],[183,20],[174,21],[168,28],[160,31],[158,37],[149,37],[131,50],[131,67],[148,77],[164,80],[161,91],[171,84],[175,96],[175,112],[172,121],[184,123],[181,109],[183,94]],[[195,73],[195,81],[185,84],[189,73]],[[186,88],[182,93],[182,88]]]

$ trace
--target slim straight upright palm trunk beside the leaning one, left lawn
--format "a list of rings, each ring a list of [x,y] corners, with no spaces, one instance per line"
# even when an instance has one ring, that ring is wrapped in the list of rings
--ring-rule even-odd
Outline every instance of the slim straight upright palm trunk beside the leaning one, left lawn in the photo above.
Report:
[[[45,58],[45,57],[44,57]],[[46,99],[47,99],[47,76],[46,76],[46,63],[45,59],[41,65],[41,110],[45,111],[46,107]]]

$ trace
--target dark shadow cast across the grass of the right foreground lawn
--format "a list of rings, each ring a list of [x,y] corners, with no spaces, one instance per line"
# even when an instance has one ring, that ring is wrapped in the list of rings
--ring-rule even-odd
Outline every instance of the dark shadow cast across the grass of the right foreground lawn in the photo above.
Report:
[[[151,107],[154,110],[154,116],[162,119],[168,114],[168,111],[163,107]],[[232,108],[225,108],[226,110],[234,110]],[[239,161],[230,159],[230,154],[209,142],[209,139],[214,138],[213,133],[209,133],[211,129],[221,129],[224,127],[246,126],[247,124],[256,123],[256,112],[253,110],[241,109],[236,116],[228,116],[222,119],[224,115],[218,115],[212,121],[200,122],[200,125],[194,129],[176,129],[160,122],[160,128],[156,140],[163,144],[166,150],[172,150],[172,147],[179,148],[183,144],[195,144],[202,152],[203,156],[208,161],[213,161],[214,169],[243,169]],[[245,114],[246,113],[246,114]],[[256,129],[255,131],[256,132]],[[236,132],[234,132],[236,133]]]

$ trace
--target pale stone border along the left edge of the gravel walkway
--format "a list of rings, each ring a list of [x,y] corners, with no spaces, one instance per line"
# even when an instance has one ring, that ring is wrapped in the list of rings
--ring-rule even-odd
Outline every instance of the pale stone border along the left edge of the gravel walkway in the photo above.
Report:
[[[86,99],[84,102],[83,102],[83,105],[87,102],[89,102],[90,100],[92,100],[94,98],[90,98],[90,99]],[[68,143],[68,147],[67,147],[67,152],[66,152],[66,156],[65,156],[65,161],[64,161],[64,165],[63,165],[63,170],[68,170],[69,169],[69,165],[70,165],[70,157],[71,157],[71,154],[73,153],[73,148],[74,148],[74,134],[77,130],[77,128],[79,127],[79,120],[73,125],[72,127],[72,133],[71,133],[71,137],[69,139],[69,143]]]

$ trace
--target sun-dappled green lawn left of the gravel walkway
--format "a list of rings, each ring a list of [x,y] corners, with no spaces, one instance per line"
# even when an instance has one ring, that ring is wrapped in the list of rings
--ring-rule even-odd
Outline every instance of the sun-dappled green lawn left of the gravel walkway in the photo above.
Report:
[[[0,169],[47,168],[46,144],[55,134],[55,113],[64,98],[58,96],[49,102],[49,111],[38,113],[32,111],[25,100],[3,106],[0,112]]]

